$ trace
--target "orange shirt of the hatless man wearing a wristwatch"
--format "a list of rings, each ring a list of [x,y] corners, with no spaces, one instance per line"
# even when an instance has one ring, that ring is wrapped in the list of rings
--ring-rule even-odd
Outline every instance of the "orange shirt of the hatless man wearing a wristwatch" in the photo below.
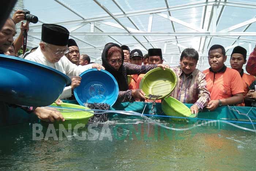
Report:
[[[234,94],[244,93],[242,78],[238,71],[226,68],[223,72],[203,71],[206,75],[207,89],[210,91],[211,100],[230,98]]]

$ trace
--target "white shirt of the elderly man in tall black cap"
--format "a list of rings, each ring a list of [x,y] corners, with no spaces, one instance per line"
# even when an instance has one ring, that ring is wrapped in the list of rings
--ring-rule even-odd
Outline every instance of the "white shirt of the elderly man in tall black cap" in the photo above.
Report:
[[[34,61],[39,64],[43,64],[46,66],[49,66],[51,68],[54,68],[65,75],[72,77],[72,76],[79,76],[82,72],[91,69],[93,64],[89,65],[75,65],[72,62],[68,60],[67,57],[63,56],[60,58],[58,62],[50,63],[44,54],[41,52],[40,46],[35,50],[35,52],[30,53],[28,56],[25,58],[26,60]],[[71,86],[65,87],[62,94],[60,95],[60,99],[68,98],[71,97]]]

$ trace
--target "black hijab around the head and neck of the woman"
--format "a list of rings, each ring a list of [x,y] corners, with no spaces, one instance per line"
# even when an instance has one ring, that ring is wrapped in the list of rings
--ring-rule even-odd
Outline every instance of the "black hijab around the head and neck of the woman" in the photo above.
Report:
[[[121,64],[120,68],[117,71],[108,63],[108,60],[107,60],[108,50],[112,46],[117,46],[121,49],[121,47],[119,45],[117,45],[116,43],[111,43],[111,44],[105,46],[103,49],[103,52],[101,54],[102,66],[104,66],[105,70],[110,72],[116,78],[119,90],[126,91],[126,90],[128,90],[128,84],[126,81],[127,76],[126,75],[124,76],[122,73],[123,68],[124,68],[123,63]],[[124,53],[121,53],[121,57],[124,60]]]

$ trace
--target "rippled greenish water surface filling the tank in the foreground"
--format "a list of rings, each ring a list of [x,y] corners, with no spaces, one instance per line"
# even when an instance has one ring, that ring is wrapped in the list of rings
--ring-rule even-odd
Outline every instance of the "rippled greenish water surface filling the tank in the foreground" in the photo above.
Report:
[[[169,120],[161,122],[169,125]],[[57,130],[57,140],[33,140],[29,123],[2,127],[0,132],[0,170],[256,169],[255,133],[229,127],[207,125],[178,132],[127,117],[91,123],[63,138]]]

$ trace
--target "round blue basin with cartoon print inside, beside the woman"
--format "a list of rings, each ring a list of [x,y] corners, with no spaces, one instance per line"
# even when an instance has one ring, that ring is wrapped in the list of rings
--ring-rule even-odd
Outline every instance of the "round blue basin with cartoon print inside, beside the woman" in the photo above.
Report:
[[[76,100],[84,103],[107,103],[112,106],[118,97],[118,84],[108,71],[89,69],[80,74],[80,86],[74,89]]]

